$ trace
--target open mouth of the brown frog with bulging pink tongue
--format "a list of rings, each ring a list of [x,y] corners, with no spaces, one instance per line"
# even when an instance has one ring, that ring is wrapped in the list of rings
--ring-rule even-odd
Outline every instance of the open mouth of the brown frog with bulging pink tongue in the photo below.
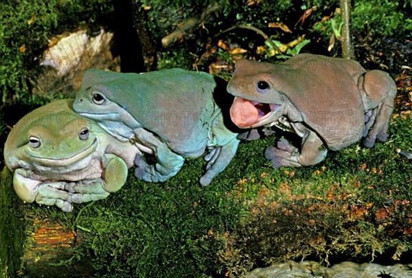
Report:
[[[257,128],[275,121],[279,104],[266,104],[236,97],[230,108],[230,117],[240,128]]]

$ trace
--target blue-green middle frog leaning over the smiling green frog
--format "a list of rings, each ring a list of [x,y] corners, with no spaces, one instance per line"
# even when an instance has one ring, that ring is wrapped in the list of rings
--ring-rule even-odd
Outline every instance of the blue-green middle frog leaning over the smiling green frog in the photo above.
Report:
[[[200,181],[208,185],[227,167],[239,143],[224,122],[231,124],[233,99],[225,86],[223,91],[217,88],[208,73],[183,69],[144,74],[91,69],[84,73],[73,108],[119,141],[133,141],[155,157],[154,165],[140,156],[135,160],[135,176],[144,181],[165,181],[179,172],[185,159],[200,157],[208,148],[207,172]],[[224,117],[220,106],[225,103]]]

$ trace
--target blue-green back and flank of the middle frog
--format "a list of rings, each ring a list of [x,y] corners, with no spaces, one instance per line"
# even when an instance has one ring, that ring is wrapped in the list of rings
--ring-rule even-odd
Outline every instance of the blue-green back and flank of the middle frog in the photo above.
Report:
[[[214,113],[212,76],[183,69],[123,75],[105,84],[113,92],[106,95],[110,100],[179,154],[198,157],[204,152]]]

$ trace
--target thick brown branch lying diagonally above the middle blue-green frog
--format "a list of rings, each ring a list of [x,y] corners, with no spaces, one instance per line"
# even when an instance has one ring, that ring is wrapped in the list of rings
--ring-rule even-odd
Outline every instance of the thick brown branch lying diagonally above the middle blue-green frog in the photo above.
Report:
[[[205,24],[211,14],[218,11],[219,9],[220,5],[218,5],[218,3],[212,3],[208,5],[206,10],[204,10],[201,14],[185,20],[183,23],[181,23],[181,25],[178,25],[174,32],[162,38],[161,44],[165,48],[170,47],[171,45],[176,43],[177,40],[181,40],[182,38],[187,36],[187,34],[194,32],[194,30]]]

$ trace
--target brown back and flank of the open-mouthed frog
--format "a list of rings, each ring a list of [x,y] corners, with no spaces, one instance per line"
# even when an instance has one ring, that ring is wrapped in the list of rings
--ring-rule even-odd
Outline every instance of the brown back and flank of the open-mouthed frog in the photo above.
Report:
[[[365,69],[358,62],[299,54],[277,66],[284,70],[275,75],[293,84],[282,91],[328,148],[339,150],[361,139],[365,120],[357,80]]]

